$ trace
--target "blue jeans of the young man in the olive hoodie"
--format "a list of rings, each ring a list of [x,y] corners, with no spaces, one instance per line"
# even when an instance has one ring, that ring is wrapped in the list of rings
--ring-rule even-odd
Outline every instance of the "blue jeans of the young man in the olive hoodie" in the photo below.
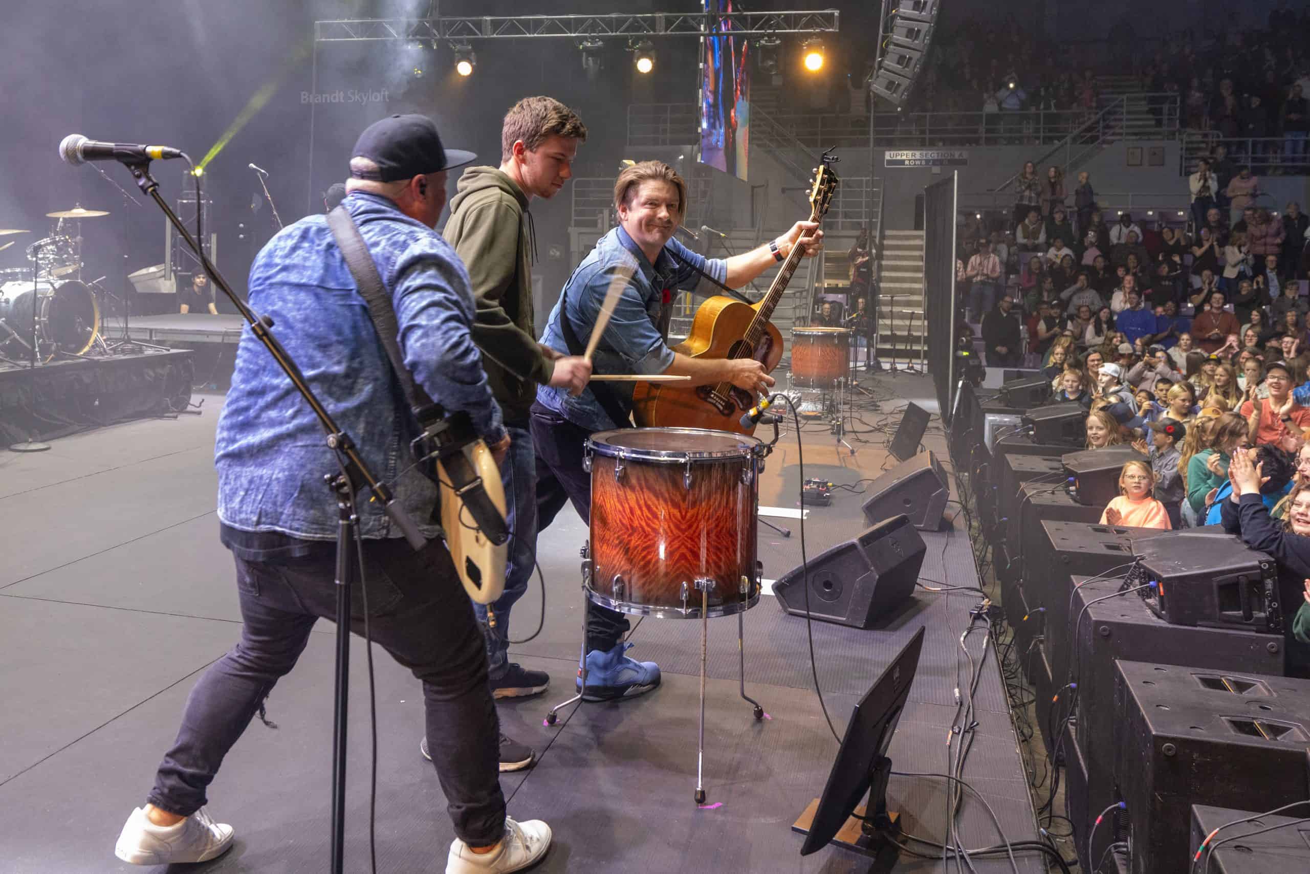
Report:
[[[504,569],[504,594],[493,604],[495,628],[487,625],[485,604],[473,604],[487,643],[487,674],[493,681],[508,663],[510,608],[528,591],[537,563],[537,455],[532,432],[507,425],[510,453],[500,464],[504,485],[504,520],[510,525],[510,561]]]

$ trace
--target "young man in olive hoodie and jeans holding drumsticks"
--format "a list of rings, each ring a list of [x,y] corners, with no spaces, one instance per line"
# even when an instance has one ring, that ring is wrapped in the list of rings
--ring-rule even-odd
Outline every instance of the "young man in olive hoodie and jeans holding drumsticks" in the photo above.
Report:
[[[536,235],[528,204],[534,197],[552,198],[563,187],[572,176],[570,165],[578,143],[586,139],[582,119],[559,101],[520,100],[504,117],[500,166],[470,166],[464,172],[443,232],[469,271],[477,303],[473,339],[482,350],[487,381],[511,439],[500,476],[512,537],[504,594],[491,604],[494,626],[487,621],[487,608],[474,604],[487,641],[491,692],[498,698],[536,694],[550,680],[545,671],[529,671],[507,659],[510,608],[528,588],[537,552],[537,472],[528,410],[538,384],[580,393],[591,377],[591,364],[579,356],[561,356],[536,341]],[[532,750],[502,735],[500,770],[527,768],[533,759]]]

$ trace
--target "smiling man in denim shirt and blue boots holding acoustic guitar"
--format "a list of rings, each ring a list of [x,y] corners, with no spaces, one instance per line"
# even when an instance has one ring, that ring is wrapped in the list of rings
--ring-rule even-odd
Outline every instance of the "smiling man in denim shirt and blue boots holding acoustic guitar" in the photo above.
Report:
[[[786,259],[796,245],[803,245],[804,254],[812,257],[823,248],[819,225],[798,221],[768,245],[726,259],[703,258],[673,240],[686,215],[686,182],[660,161],[642,161],[620,173],[614,207],[620,227],[603,236],[569,278],[550,311],[541,342],[561,355],[580,355],[610,279],[616,271],[631,271],[596,347],[593,372],[671,373],[690,376],[690,385],[731,383],[751,393],[766,392],[773,377],[757,360],[693,359],[669,349],[675,292],[688,288],[714,295],[718,286],[713,280],[739,288]],[[811,236],[802,241],[803,233]],[[596,431],[626,427],[631,409],[630,384],[593,381],[578,397],[549,385],[537,388],[531,428],[537,452],[538,532],[550,524],[565,501],[571,501],[583,522],[590,523],[591,474],[583,469],[587,438]],[[622,613],[593,604],[587,616],[586,700],[631,697],[659,685],[655,663],[637,662],[624,654],[631,645],[621,642],[630,628]]]

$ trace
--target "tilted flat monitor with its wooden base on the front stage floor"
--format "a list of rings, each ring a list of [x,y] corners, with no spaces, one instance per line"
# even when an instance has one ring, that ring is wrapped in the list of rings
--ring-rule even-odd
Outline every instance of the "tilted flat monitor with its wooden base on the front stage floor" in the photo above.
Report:
[[[924,630],[920,628],[914,633],[850,714],[823,797],[810,802],[806,812],[791,826],[793,831],[806,836],[802,856],[829,843],[872,857],[887,852],[895,854],[896,848],[889,839],[897,836],[900,828],[896,815],[887,811],[887,780],[892,773],[887,748],[909,697],[909,687],[914,683]],[[861,805],[865,795],[869,795],[869,802]]]

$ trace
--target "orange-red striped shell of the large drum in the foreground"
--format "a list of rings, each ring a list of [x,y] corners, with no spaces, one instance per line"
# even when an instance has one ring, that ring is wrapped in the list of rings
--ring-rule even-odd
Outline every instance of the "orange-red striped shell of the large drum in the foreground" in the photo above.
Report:
[[[681,613],[686,583],[688,618],[701,615],[696,580],[710,578],[710,615],[739,612],[740,582],[747,596],[760,594],[756,571],[756,501],[753,469],[743,482],[749,457],[686,464],[627,457],[616,482],[620,459],[596,455],[591,461],[592,590],[629,613]],[[622,590],[614,592],[614,575]],[[724,605],[727,609],[723,609]]]

